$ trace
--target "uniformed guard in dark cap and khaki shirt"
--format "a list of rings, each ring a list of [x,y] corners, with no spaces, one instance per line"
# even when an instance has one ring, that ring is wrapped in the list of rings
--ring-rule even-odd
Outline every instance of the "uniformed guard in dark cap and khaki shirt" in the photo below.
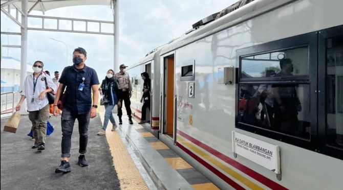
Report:
[[[124,64],[121,64],[119,66],[120,72],[116,73],[114,75],[114,78],[118,81],[119,83],[119,96],[120,96],[120,107],[118,106],[118,117],[119,117],[119,125],[123,124],[121,120],[121,116],[123,115],[123,112],[121,110],[123,106],[123,101],[124,105],[126,108],[126,113],[128,116],[128,123],[134,124],[132,121],[132,116],[131,116],[131,91],[132,91],[132,86],[131,86],[131,81],[130,81],[130,76],[126,73],[126,67]]]

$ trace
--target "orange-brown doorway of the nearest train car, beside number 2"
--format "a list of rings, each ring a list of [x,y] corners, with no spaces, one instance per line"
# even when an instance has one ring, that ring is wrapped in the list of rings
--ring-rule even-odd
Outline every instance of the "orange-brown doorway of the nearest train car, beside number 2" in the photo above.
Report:
[[[163,133],[175,140],[174,127],[174,55],[164,59],[164,130]]]

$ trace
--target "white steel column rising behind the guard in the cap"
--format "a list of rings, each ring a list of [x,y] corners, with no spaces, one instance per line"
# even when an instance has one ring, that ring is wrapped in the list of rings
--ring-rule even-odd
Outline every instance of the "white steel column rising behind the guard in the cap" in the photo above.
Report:
[[[114,62],[113,67],[115,72],[119,72],[119,2],[116,0],[113,7],[113,21],[114,21]]]

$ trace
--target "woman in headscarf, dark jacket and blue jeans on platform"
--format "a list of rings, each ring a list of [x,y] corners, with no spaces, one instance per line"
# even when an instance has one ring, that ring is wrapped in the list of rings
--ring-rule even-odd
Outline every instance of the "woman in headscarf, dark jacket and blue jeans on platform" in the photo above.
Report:
[[[103,92],[103,98],[100,101],[101,105],[105,106],[105,116],[103,120],[103,126],[102,129],[98,132],[98,135],[104,135],[106,134],[106,128],[109,124],[109,120],[112,123],[112,131],[115,131],[117,129],[116,121],[114,120],[112,110],[115,105],[118,104],[118,107],[120,107],[120,97],[119,97],[119,88],[118,88],[118,81],[114,79],[114,72],[112,69],[110,69],[104,80],[102,80],[102,83],[100,85],[102,92]]]

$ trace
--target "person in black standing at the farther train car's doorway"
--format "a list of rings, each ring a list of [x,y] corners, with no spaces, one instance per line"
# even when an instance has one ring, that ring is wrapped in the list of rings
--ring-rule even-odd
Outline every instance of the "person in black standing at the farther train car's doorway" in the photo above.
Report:
[[[143,88],[143,96],[141,98],[141,103],[144,101],[142,106],[142,118],[139,124],[145,124],[146,122],[146,108],[150,109],[150,91],[151,91],[151,79],[149,78],[149,74],[146,72],[141,73],[141,77],[144,81],[144,88]]]

